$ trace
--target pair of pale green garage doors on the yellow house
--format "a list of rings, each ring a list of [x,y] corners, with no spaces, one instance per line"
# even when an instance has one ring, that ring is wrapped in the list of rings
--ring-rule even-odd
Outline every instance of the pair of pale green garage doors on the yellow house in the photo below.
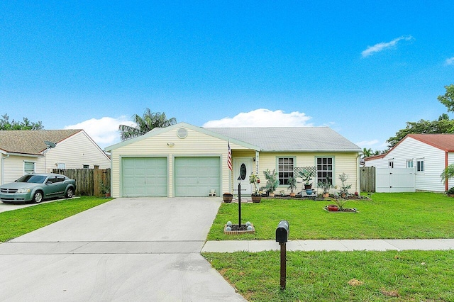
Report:
[[[220,157],[175,157],[173,170],[175,196],[208,196],[221,189]],[[124,197],[168,196],[167,157],[125,157],[122,171]]]

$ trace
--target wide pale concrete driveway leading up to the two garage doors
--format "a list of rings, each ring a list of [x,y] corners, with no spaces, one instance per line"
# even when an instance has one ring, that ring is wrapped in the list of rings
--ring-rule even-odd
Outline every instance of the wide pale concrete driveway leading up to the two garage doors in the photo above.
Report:
[[[4,242],[0,301],[245,301],[200,255],[220,203],[117,198]]]

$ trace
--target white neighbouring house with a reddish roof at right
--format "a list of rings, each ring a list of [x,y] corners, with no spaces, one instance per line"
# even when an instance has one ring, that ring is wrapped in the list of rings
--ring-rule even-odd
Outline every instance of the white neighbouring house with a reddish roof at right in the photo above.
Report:
[[[409,169],[415,191],[443,192],[454,179],[443,184],[440,174],[454,163],[453,134],[409,134],[386,154],[365,158],[366,167]]]

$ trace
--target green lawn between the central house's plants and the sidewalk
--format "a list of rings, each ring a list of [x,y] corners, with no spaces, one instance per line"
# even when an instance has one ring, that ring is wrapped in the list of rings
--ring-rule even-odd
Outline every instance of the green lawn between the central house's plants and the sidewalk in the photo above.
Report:
[[[242,223],[250,221],[255,234],[225,235],[228,220],[238,224],[238,203],[222,203],[207,240],[275,240],[279,220],[290,224],[290,240],[453,238],[454,198],[435,193],[373,194],[371,200],[345,204],[360,213],[328,213],[332,202],[262,199],[242,203]]]

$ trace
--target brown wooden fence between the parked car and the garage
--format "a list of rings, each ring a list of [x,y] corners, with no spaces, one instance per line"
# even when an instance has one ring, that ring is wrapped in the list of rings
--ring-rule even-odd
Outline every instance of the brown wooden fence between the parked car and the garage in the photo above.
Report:
[[[103,187],[111,187],[111,169],[53,169],[59,173],[76,180],[78,196],[103,196]]]

